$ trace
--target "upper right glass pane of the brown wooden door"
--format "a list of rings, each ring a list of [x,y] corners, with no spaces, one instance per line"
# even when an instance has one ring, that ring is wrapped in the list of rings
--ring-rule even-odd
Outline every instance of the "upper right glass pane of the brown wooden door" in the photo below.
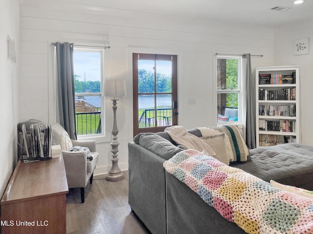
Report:
[[[172,92],[172,62],[156,61],[156,92]]]

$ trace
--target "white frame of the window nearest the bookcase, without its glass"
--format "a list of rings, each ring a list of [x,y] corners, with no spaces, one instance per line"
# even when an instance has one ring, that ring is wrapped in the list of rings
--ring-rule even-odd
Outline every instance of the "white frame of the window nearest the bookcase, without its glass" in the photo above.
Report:
[[[218,59],[237,59],[238,60],[238,88],[237,89],[218,89],[217,87],[217,64]],[[218,115],[216,115],[216,123],[217,125],[225,125],[225,124],[243,124],[243,58],[242,56],[231,56],[231,55],[217,55],[216,56],[216,104],[217,104],[217,96],[219,94],[238,94],[238,121],[228,121],[228,122],[218,122]],[[216,113],[218,113],[218,109],[216,109]]]

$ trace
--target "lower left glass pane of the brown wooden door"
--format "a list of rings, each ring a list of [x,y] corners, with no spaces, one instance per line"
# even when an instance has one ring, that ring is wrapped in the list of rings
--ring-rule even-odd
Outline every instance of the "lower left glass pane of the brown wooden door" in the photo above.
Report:
[[[138,95],[139,128],[155,126],[155,96]]]

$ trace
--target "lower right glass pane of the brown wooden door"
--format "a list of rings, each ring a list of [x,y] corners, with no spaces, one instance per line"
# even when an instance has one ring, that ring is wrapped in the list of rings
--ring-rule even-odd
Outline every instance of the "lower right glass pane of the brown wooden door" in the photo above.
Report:
[[[172,95],[156,95],[156,124],[168,126],[172,124]]]

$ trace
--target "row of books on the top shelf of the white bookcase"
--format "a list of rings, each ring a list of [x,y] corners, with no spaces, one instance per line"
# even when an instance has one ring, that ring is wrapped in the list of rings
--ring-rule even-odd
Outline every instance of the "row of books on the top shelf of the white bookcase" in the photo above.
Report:
[[[259,74],[259,84],[295,84],[295,72],[291,75]]]

